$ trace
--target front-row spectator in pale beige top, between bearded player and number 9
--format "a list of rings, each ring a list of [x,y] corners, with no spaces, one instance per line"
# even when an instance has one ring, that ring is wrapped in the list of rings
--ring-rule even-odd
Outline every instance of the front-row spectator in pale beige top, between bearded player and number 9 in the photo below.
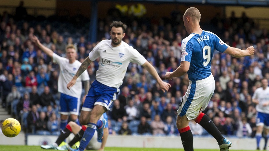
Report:
[[[151,122],[151,128],[153,135],[163,135],[165,124],[161,121],[161,118],[158,114],[155,115],[154,120]]]

